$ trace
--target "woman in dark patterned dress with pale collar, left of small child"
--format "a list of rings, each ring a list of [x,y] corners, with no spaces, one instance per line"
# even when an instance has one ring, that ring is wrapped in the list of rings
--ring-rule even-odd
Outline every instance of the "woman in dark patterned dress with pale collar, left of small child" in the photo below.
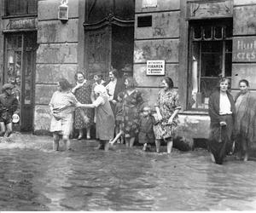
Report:
[[[140,91],[135,89],[136,81],[132,77],[125,79],[124,92],[124,133],[126,147],[132,147],[139,131],[139,113],[143,104],[143,97]]]

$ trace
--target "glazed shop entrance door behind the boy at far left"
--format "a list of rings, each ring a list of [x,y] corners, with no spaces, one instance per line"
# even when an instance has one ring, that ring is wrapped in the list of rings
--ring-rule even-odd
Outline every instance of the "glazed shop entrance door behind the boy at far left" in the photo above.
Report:
[[[20,103],[20,122],[15,125],[15,128],[21,131],[31,131],[37,33],[6,33],[4,37],[5,66],[3,83],[15,85],[14,92]]]

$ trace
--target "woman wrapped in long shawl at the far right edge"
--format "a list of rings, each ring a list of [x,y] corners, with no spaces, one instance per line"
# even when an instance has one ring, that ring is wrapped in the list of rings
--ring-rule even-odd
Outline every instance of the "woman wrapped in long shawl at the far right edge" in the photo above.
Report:
[[[248,151],[256,143],[256,98],[249,90],[246,79],[239,82],[240,92],[236,95],[236,152],[238,158],[248,159]]]

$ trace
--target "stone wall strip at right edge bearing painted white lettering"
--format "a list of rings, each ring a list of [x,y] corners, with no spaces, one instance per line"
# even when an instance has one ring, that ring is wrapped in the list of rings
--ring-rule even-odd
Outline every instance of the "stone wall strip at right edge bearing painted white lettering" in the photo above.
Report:
[[[232,89],[246,78],[256,89],[256,0],[234,0]],[[254,91],[253,91],[254,92]]]

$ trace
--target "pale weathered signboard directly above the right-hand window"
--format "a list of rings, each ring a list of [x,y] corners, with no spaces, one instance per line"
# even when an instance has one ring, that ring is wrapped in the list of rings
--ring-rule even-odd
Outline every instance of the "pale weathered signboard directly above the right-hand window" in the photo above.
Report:
[[[233,14],[232,1],[190,1],[188,2],[188,18],[202,19],[212,17],[230,17]]]

